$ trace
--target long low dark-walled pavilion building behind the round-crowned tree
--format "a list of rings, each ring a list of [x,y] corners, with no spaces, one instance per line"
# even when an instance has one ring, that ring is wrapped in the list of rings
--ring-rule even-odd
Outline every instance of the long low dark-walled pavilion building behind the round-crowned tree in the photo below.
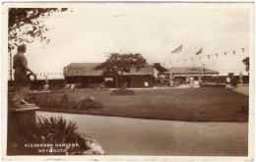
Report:
[[[64,67],[64,82],[79,83],[81,87],[94,87],[104,84],[106,87],[121,87],[126,82],[127,87],[154,86],[154,70],[147,64],[140,71],[131,70],[130,73],[118,75],[105,75],[102,71],[95,70],[100,63],[71,63]]]

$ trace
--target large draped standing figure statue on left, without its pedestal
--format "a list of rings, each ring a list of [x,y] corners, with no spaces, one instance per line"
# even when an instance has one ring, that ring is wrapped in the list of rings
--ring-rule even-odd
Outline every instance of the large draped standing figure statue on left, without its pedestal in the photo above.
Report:
[[[18,108],[19,106],[32,106],[25,101],[25,93],[30,91],[30,78],[28,72],[36,79],[35,74],[28,67],[28,62],[25,57],[26,45],[18,46],[18,53],[13,57],[14,72],[14,93],[11,97],[11,107]]]

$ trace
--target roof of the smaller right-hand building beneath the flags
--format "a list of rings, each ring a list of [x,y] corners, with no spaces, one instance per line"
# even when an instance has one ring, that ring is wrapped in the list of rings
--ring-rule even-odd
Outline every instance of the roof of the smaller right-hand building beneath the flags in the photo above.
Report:
[[[179,74],[198,74],[198,73],[202,73],[202,70],[203,70],[202,67],[194,67],[194,68],[191,68],[191,67],[172,67],[172,68],[169,69],[168,73],[173,74],[173,75],[177,75],[177,74],[178,75]],[[220,72],[204,68],[204,74],[218,75],[218,74],[220,74]]]

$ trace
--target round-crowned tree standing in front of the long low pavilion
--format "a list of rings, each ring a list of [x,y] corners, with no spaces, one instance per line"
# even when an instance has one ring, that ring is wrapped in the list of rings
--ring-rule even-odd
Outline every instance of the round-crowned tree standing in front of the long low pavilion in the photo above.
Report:
[[[106,61],[96,66],[95,70],[101,70],[105,75],[121,76],[123,82],[124,73],[130,73],[133,69],[138,72],[146,64],[146,59],[139,53],[110,53]]]

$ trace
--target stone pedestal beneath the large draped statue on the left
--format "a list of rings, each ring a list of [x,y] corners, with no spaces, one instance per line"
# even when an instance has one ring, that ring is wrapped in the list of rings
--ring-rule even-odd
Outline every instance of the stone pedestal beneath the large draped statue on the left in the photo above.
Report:
[[[8,141],[7,154],[19,154],[17,145],[19,137],[35,125],[35,110],[39,107],[32,105],[19,105],[8,109]]]

